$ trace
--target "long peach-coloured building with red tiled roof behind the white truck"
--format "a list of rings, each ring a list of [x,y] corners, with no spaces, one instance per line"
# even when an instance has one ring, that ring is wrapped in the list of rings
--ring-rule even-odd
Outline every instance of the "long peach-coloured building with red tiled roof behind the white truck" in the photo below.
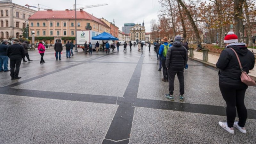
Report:
[[[61,43],[66,43],[67,40],[76,43],[76,30],[110,33],[108,25],[83,10],[76,11],[76,19],[75,11],[72,10],[37,11],[28,19],[29,32],[35,31],[35,40],[44,40],[46,44],[54,44],[56,40],[61,40]]]

